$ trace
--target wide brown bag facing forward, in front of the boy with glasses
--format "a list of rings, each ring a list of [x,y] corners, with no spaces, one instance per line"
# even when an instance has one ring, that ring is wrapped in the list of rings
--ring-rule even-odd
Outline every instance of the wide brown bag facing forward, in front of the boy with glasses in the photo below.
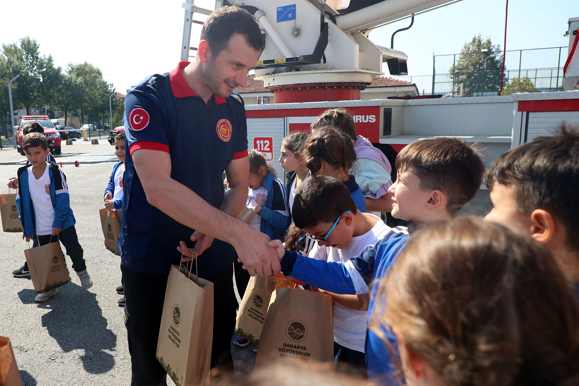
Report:
[[[280,288],[273,292],[259,339],[255,366],[273,360],[334,361],[332,298],[324,293]]]

